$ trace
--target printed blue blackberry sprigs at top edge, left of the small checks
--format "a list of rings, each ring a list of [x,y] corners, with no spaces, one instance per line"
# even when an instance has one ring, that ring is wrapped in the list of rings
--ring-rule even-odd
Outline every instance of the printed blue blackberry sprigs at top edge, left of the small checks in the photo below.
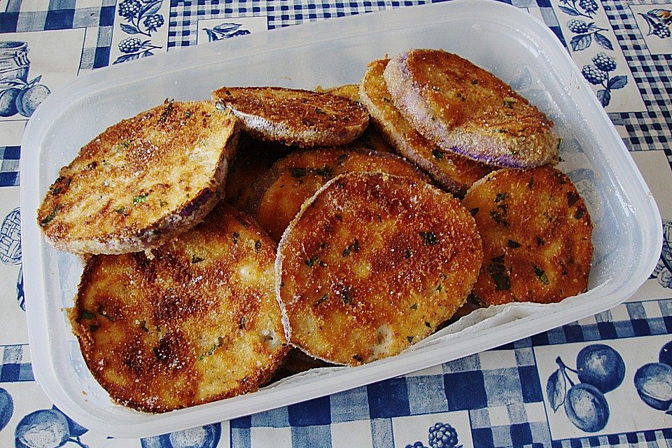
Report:
[[[123,0],[119,3],[119,15],[128,23],[120,25],[126,34],[141,34],[151,38],[152,34],[165,24],[163,15],[157,14],[163,0]],[[161,48],[152,45],[151,39],[137,37],[125,38],[119,43],[119,51],[124,54],[118,57],[113,64],[153,55],[152,50]]]

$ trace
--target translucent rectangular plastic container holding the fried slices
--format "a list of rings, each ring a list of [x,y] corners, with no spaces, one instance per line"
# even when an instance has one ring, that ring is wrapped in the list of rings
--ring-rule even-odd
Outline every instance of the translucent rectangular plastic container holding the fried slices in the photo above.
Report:
[[[222,85],[314,88],[358,83],[367,62],[409,48],[443,48],[496,73],[554,120],[559,168],[587,200],[594,230],[589,291],[559,304],[482,309],[398,356],[311,370],[248,395],[142,414],[114,404],[83,362],[66,320],[82,266],[55,251],[36,209],[62,165],[123,118],[166,98],[208,99]],[[48,397],[87,428],[145,437],[289,405],[467,356],[595,314],[647,279],[661,247],[653,197],[568,52],[540,21],[495,1],[451,1],[313,22],[175,50],[78,78],[51,94],[22,144],[22,247],[31,358]]]

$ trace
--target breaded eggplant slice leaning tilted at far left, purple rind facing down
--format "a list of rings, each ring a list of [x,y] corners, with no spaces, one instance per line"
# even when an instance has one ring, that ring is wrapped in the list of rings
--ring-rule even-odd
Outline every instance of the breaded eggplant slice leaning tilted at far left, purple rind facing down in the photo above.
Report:
[[[235,116],[211,102],[166,102],[122,120],[60,169],[38,224],[62,251],[158,246],[215,206],[236,142]]]

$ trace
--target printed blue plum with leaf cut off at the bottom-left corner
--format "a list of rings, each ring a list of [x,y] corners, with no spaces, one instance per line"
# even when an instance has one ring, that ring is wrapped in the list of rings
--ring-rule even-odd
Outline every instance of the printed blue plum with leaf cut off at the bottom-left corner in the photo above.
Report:
[[[24,416],[14,431],[16,448],[59,448],[73,442],[89,448],[80,440],[88,430],[66,416],[60,409],[38,409]]]

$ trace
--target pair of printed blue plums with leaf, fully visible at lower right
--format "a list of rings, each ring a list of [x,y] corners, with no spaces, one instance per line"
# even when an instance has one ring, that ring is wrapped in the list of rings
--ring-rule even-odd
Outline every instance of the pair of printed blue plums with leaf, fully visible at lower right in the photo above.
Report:
[[[577,354],[576,370],[563,363],[559,356],[555,362],[558,370],[546,383],[546,395],[553,412],[563,406],[567,418],[577,428],[587,433],[603,430],[609,421],[609,405],[604,394],[620,386],[625,377],[621,355],[608,345],[591,344]],[[573,381],[568,372],[573,372],[578,381]]]

